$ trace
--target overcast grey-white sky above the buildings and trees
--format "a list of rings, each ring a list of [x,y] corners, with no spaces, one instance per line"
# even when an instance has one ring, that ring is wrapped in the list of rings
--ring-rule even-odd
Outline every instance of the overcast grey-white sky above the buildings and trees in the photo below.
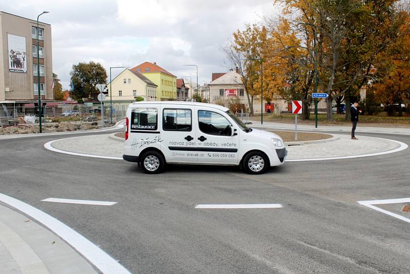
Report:
[[[220,48],[245,23],[277,14],[272,0],[0,0],[0,10],[51,24],[53,71],[69,88],[78,62],[109,67],[156,62],[179,77],[209,82],[225,72]],[[120,69],[113,69],[113,77]],[[107,80],[109,81],[109,79]],[[189,82],[189,81],[188,81]]]

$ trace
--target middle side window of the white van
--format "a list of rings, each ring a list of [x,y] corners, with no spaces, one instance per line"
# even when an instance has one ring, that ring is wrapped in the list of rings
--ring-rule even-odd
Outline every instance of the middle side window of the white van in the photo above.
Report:
[[[162,128],[172,131],[191,131],[192,111],[190,109],[164,109]]]

